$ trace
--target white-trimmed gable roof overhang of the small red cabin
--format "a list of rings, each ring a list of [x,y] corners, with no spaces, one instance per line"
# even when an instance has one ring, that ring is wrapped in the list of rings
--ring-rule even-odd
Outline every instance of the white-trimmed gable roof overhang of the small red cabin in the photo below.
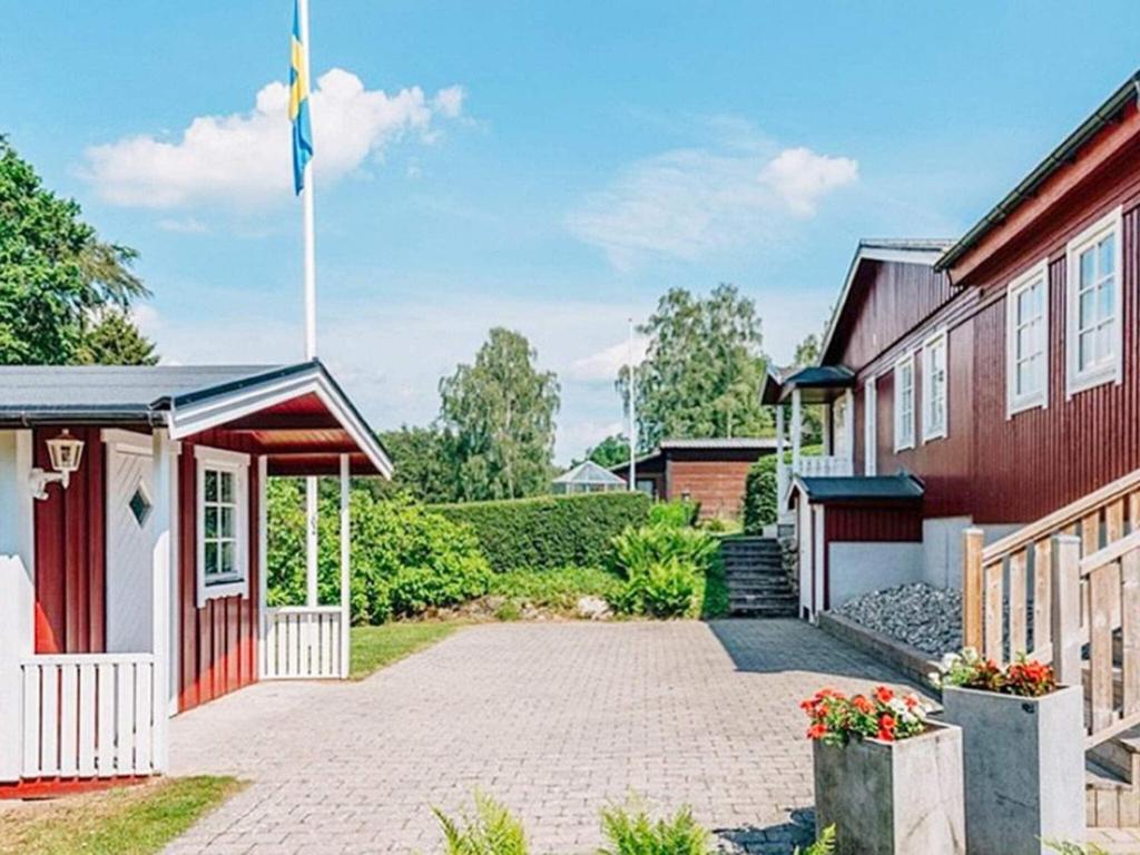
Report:
[[[351,445],[359,450],[376,473],[391,478],[393,466],[376,434],[364,417],[349,400],[341,386],[333,380],[325,366],[318,360],[278,368],[264,374],[243,377],[230,383],[204,388],[186,394],[168,398],[155,402],[155,408],[165,412],[165,421],[172,439],[185,439],[203,431],[226,429],[250,418],[256,414],[271,413],[275,408],[298,399],[316,399],[325,414],[335,422],[335,426],[347,434]],[[282,430],[296,430],[303,420],[300,415],[285,416],[280,420]],[[321,424],[317,432],[333,425]],[[255,426],[252,427],[255,430]],[[267,431],[268,433],[269,431]],[[310,433],[310,435],[318,435]],[[300,442],[291,448],[298,464],[308,471],[306,458],[316,469],[320,467],[320,458],[328,454],[348,453],[343,443]],[[309,450],[311,449],[311,450]],[[332,449],[332,450],[329,450]],[[272,455],[274,447],[268,446],[267,453]],[[283,473],[288,472],[285,466]]]

